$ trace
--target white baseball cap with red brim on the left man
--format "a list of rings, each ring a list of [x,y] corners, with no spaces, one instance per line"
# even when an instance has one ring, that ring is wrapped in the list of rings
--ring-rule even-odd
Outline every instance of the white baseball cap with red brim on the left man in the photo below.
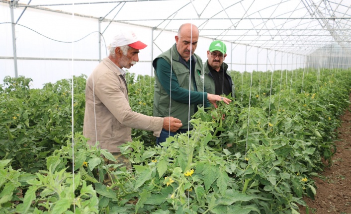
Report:
[[[141,50],[147,47],[147,45],[139,41],[135,33],[130,30],[119,31],[111,42],[112,48],[121,47],[124,45],[128,45],[129,47],[135,48],[137,50]]]

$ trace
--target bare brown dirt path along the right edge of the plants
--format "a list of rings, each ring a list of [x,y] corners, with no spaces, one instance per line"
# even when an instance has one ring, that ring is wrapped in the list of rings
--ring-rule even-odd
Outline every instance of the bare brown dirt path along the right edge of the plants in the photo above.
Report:
[[[351,108],[351,106],[350,106]],[[313,201],[304,198],[310,214],[351,214],[351,113],[346,111],[338,128],[337,152],[331,166],[319,173],[317,195]],[[304,208],[301,214],[306,214]]]

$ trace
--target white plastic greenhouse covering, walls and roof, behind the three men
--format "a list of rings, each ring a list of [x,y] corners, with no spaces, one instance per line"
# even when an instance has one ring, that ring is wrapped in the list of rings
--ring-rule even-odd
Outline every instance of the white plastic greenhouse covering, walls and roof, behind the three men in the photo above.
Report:
[[[186,22],[200,29],[195,53],[205,61],[210,42],[223,40],[234,71],[348,68],[350,6],[349,0],[0,0],[0,84],[6,75],[30,77],[34,88],[88,75],[120,28],[148,45],[130,72],[153,75],[151,61]]]

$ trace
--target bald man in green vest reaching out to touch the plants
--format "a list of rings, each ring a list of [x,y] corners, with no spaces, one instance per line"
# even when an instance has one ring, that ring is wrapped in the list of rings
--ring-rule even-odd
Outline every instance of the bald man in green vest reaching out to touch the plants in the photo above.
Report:
[[[154,116],[172,116],[182,123],[176,132],[163,129],[157,138],[158,144],[165,142],[169,136],[191,129],[188,120],[197,111],[197,105],[208,107],[212,103],[217,107],[216,101],[224,101],[226,104],[231,102],[230,99],[204,91],[200,75],[203,70],[202,61],[194,54],[198,37],[199,31],[195,25],[182,24],[175,36],[175,45],[153,61]]]

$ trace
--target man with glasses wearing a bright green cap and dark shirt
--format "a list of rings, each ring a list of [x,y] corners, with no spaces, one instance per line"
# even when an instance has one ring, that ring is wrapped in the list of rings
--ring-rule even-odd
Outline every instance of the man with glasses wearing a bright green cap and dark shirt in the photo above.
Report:
[[[213,41],[207,51],[207,61],[204,64],[204,85],[211,94],[234,97],[234,82],[228,70],[228,65],[223,61],[227,56],[226,45],[219,40]]]

